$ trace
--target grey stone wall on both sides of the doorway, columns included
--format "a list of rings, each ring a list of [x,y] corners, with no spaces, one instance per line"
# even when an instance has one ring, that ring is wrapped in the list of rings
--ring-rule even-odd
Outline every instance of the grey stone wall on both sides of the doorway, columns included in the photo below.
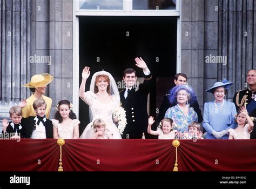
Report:
[[[72,100],[73,1],[0,3],[0,117],[30,96],[22,85],[37,73],[55,76],[46,93],[53,106],[62,99]],[[228,93],[232,98],[244,88],[246,71],[256,68],[255,11],[253,0],[181,0],[181,72],[196,91],[201,110],[204,102],[213,99],[204,91],[217,80],[234,82]],[[31,56],[46,56],[51,62],[31,62]],[[206,63],[207,56],[226,56],[227,63]],[[51,117],[53,113],[52,109]]]

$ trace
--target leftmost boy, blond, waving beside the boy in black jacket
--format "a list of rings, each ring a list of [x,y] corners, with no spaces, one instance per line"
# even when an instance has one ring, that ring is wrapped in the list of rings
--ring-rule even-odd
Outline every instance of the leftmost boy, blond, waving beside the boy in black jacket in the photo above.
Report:
[[[8,122],[7,119],[3,119],[3,137],[5,139],[24,138],[24,127],[21,125],[22,108],[12,106],[9,113],[11,122]]]

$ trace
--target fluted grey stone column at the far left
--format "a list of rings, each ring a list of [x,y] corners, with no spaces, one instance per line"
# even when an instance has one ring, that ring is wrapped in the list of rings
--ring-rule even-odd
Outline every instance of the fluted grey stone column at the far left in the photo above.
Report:
[[[9,117],[11,106],[29,95],[22,85],[30,80],[31,1],[3,0],[0,8],[1,120]]]

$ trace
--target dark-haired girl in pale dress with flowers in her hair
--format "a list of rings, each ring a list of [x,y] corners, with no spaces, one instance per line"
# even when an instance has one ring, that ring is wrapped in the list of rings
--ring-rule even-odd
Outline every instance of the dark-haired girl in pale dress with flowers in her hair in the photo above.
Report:
[[[69,100],[60,100],[56,106],[55,119],[52,119],[53,138],[75,139],[79,138],[79,120],[72,110]]]

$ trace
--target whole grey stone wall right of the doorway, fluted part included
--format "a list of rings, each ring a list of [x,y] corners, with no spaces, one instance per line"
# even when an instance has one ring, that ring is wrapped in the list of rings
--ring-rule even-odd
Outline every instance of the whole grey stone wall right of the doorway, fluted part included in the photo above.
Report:
[[[234,82],[227,96],[232,99],[244,89],[246,72],[256,68],[255,10],[253,0],[181,0],[181,72],[196,91],[201,110],[213,100],[205,90],[215,82]],[[226,63],[206,60],[217,56]]]

